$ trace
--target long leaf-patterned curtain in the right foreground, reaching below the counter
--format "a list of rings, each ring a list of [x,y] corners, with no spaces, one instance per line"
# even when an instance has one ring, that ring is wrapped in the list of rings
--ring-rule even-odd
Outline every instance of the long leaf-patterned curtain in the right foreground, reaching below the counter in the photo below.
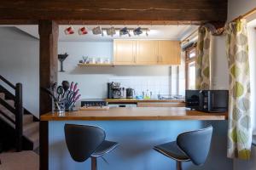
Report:
[[[230,70],[228,157],[249,159],[252,144],[247,22],[226,26],[226,49]]]

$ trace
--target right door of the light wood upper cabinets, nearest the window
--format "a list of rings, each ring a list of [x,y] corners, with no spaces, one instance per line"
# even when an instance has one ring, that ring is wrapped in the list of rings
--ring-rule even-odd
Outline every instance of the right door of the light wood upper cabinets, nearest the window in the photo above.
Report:
[[[180,65],[181,48],[179,41],[158,41],[158,64]]]

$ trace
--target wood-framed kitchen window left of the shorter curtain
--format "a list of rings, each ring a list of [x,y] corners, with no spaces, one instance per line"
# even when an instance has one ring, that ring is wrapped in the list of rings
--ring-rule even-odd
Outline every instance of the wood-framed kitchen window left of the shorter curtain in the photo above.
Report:
[[[195,89],[196,43],[185,49],[186,89]]]

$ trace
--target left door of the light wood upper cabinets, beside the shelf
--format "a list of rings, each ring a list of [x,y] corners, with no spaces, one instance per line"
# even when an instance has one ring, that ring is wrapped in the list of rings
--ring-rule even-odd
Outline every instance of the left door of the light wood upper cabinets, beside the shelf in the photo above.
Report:
[[[113,41],[113,64],[135,65],[136,42],[132,40]]]

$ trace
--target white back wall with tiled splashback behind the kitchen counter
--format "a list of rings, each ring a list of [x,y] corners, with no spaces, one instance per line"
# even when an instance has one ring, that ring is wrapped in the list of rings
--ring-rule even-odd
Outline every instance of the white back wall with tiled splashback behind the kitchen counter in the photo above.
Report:
[[[114,66],[79,67],[82,56],[113,59],[113,42],[59,42],[59,54],[69,54],[64,61],[64,70],[59,72],[58,82],[79,82],[82,99],[107,97],[107,82],[121,82],[125,88],[135,88],[136,94],[147,89],[157,94],[177,94],[175,80],[171,80],[170,66]],[[172,68],[172,78],[177,77],[177,68]],[[172,84],[172,85],[171,85]],[[172,89],[170,87],[173,87]]]

